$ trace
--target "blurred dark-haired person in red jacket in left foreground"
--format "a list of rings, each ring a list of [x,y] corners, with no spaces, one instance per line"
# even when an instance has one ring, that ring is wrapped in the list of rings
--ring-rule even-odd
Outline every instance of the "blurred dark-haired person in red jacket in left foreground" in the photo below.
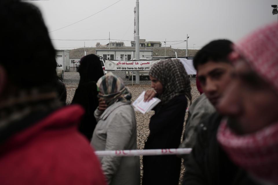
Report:
[[[39,9],[1,1],[0,17],[1,184],[104,185],[98,159],[77,131],[83,109],[61,108],[58,100],[55,50]]]

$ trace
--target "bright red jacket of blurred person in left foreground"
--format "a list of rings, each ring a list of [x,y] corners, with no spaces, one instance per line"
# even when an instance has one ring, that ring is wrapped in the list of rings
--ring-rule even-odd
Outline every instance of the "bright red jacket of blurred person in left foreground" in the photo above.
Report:
[[[94,184],[105,178],[93,149],[77,131],[84,111],[61,108],[0,146],[0,184]]]

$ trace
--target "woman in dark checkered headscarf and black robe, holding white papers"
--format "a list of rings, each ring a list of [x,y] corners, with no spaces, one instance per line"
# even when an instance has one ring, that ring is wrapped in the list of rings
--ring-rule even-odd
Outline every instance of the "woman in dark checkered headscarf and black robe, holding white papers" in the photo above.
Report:
[[[145,100],[154,95],[161,102],[154,108],[149,123],[150,135],[145,149],[178,148],[182,135],[187,99],[191,101],[191,86],[183,64],[168,59],[154,64],[149,72],[151,87]],[[173,156],[144,156],[142,184],[178,184],[181,160]]]

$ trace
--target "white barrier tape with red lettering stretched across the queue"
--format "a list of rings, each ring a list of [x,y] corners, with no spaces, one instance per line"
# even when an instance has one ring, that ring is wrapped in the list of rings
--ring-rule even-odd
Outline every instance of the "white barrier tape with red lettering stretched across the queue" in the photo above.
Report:
[[[98,157],[104,156],[161,156],[161,155],[178,155],[189,154],[191,148],[178,149],[148,149],[148,150],[103,150],[95,151]]]

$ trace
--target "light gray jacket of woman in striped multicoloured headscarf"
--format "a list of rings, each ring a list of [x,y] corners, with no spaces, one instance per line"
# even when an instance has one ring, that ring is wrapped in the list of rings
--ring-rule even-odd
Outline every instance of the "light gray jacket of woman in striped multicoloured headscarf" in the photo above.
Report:
[[[116,102],[104,112],[95,110],[98,121],[91,145],[95,150],[137,149],[136,119],[131,102]],[[140,184],[140,159],[134,157],[100,158],[109,185]]]

